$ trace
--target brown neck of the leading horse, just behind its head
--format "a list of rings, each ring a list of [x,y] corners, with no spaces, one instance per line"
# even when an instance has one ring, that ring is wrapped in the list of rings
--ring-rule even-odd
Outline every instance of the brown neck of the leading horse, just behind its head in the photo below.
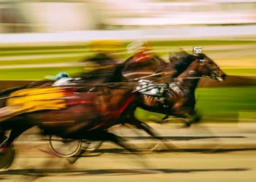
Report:
[[[200,76],[202,76],[202,74],[200,73],[200,71],[197,71],[196,65],[192,63],[182,74],[180,74],[177,77],[177,79],[181,80],[181,82],[178,82],[180,87],[183,87],[184,89],[188,90],[190,93],[194,93],[200,79],[199,78],[187,79],[187,78],[200,77]]]

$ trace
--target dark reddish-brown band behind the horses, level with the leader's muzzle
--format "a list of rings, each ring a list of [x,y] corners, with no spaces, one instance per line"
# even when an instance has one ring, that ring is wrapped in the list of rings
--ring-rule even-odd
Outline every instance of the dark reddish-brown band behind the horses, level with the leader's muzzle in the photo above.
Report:
[[[18,81],[18,80],[7,80],[0,81],[0,90],[7,88],[18,87],[26,84],[30,84],[34,81]],[[227,76],[225,82],[217,82],[215,80],[203,78],[197,87],[253,87],[256,86],[256,76]]]

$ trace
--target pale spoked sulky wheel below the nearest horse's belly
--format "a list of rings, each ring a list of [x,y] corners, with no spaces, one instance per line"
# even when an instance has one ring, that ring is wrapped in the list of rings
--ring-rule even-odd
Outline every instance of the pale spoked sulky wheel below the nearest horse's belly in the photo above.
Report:
[[[82,141],[64,139],[55,135],[49,137],[50,149],[58,157],[75,157],[81,150]]]

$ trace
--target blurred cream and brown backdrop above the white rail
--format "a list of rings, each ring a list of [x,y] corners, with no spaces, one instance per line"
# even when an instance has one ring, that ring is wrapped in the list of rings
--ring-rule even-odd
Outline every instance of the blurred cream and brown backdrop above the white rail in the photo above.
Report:
[[[1,0],[0,31],[39,33],[253,25],[255,8],[254,0]]]

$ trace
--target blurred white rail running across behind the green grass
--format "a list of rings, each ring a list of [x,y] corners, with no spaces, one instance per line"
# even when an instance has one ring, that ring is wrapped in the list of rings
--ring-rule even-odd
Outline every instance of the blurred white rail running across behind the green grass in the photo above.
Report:
[[[198,26],[151,28],[128,31],[70,31],[62,33],[1,33],[0,45],[86,42],[116,39],[225,39],[236,36],[256,36],[256,25],[241,26]]]

